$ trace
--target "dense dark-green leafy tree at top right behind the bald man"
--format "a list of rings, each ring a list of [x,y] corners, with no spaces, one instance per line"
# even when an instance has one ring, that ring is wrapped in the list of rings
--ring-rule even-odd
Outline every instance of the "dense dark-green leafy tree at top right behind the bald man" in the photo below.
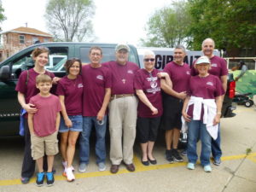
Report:
[[[209,37],[219,49],[256,48],[256,1],[189,0],[189,13],[192,49]]]

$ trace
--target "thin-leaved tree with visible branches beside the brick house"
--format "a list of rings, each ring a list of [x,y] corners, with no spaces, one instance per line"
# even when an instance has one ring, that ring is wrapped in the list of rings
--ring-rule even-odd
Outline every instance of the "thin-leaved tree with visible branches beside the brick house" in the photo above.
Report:
[[[49,0],[44,17],[57,41],[83,41],[92,34],[92,0]]]

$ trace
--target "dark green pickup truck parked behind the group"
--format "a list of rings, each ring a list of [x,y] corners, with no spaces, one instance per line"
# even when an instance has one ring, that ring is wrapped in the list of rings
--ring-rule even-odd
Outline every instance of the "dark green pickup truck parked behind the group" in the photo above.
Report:
[[[103,51],[102,62],[115,60],[115,46],[117,44],[84,44],[84,43],[44,43],[34,44],[20,50],[15,55],[0,63],[0,137],[19,134],[20,104],[17,100],[15,86],[20,73],[33,66],[32,50],[44,46],[49,48],[49,64],[47,70],[55,73],[57,77],[63,77],[66,72],[64,63],[70,58],[79,58],[83,63],[89,63],[89,49],[99,46]],[[139,66],[137,49],[129,45],[131,52],[129,61]]]

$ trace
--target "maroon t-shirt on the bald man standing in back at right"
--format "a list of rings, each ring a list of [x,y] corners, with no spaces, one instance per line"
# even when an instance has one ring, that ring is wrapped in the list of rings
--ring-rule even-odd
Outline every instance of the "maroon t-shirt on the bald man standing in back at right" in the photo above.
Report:
[[[214,55],[211,59],[211,69],[208,71],[208,73],[215,75],[220,79],[221,76],[228,75],[229,71],[227,68],[227,62],[219,57]],[[195,61],[193,64],[193,67],[191,68],[191,75],[195,76],[198,74],[197,69],[195,69]]]

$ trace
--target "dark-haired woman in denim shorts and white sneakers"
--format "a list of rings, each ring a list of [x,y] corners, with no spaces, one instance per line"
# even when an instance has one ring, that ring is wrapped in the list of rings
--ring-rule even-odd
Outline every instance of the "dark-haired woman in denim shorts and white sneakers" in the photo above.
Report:
[[[80,76],[82,63],[79,59],[67,60],[65,63],[67,75],[57,87],[57,95],[61,100],[61,155],[63,175],[67,181],[75,179],[73,175],[73,156],[79,133],[83,131],[82,97],[83,80]]]

